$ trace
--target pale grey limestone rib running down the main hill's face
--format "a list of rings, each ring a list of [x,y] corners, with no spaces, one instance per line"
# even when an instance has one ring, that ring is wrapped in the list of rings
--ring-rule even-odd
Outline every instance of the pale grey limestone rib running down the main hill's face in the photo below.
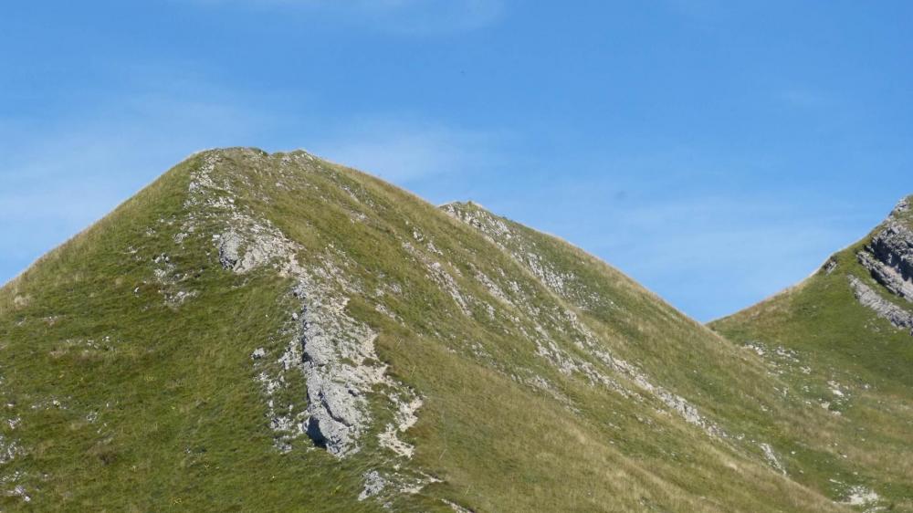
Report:
[[[387,436],[388,447],[397,455],[411,455],[411,446],[394,444],[398,442],[395,432],[415,424],[415,410],[421,401],[402,383],[385,375],[386,366],[374,351],[377,334],[345,311],[348,298],[343,293],[358,287],[332,263],[332,258],[339,256],[329,247],[319,265],[301,266],[298,254],[303,248],[268,220],[239,206],[227,179],[216,182],[218,162],[217,154],[206,155],[192,176],[186,206],[194,207],[190,209],[194,214],[184,223],[184,231],[194,231],[201,219],[215,221],[224,226],[213,237],[223,267],[237,274],[273,267],[296,283],[292,293],[300,309],[289,313],[289,345],[278,358],[278,370],[260,372],[257,377],[268,398],[270,425],[277,432],[278,447],[290,450],[290,441],[307,434],[332,455],[344,457],[357,452],[362,435],[373,426],[369,397],[385,392],[394,416],[401,419],[393,434]],[[262,348],[251,355],[255,361],[265,356]],[[307,407],[283,404],[283,413],[278,414],[275,396],[286,387],[288,372],[304,375]]]

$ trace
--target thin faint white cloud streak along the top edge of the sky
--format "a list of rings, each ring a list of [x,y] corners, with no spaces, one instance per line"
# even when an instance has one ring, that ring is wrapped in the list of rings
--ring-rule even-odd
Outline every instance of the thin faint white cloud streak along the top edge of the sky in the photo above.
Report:
[[[180,1],[180,0],[179,0]],[[282,9],[319,14],[404,35],[430,36],[475,30],[496,22],[506,0],[190,0],[198,5]]]

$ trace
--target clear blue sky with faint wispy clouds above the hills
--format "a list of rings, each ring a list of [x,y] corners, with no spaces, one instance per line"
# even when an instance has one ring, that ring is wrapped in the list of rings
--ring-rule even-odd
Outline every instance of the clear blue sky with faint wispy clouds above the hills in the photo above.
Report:
[[[913,194],[909,2],[9,2],[0,282],[191,152],[304,148],[707,320]]]

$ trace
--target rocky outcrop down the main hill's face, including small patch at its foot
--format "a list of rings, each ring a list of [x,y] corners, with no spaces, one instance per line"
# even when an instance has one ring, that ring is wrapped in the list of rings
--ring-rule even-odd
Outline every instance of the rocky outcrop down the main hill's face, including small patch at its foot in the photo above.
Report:
[[[349,298],[362,294],[362,283],[343,271],[351,264],[349,257],[332,246],[306,250],[242,205],[225,173],[216,171],[223,164],[230,162],[208,154],[192,173],[182,229],[184,234],[215,229],[211,240],[227,271],[247,275],[269,270],[293,284],[291,301],[282,303],[288,319],[283,329],[266,340],[267,347],[250,354],[277,449],[287,453],[297,440],[310,439],[331,455],[346,458],[358,453],[366,436],[373,434],[385,449],[385,467],[362,476],[359,500],[386,504],[395,495],[415,494],[438,482],[404,465],[415,447],[402,435],[418,421],[423,400],[387,374],[374,348],[378,334],[347,311]],[[301,258],[305,254],[307,261]],[[300,376],[306,393],[291,384]]]

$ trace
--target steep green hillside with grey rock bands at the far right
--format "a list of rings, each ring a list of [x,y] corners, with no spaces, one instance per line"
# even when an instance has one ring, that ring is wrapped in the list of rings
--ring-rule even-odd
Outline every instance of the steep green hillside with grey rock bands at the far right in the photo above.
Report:
[[[810,409],[833,416],[814,429],[814,452],[800,456],[819,487],[860,503],[881,497],[872,510],[913,510],[910,200],[798,286],[711,324],[763,353]]]

